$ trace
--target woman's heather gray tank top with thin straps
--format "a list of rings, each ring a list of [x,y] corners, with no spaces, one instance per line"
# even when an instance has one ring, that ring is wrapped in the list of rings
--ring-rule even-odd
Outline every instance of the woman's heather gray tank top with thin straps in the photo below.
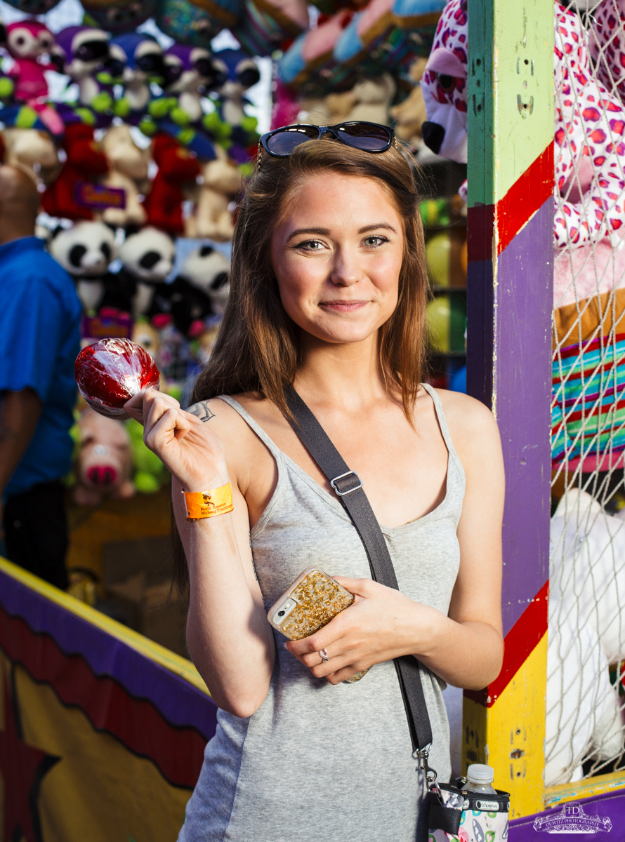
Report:
[[[457,524],[465,474],[441,401],[448,450],[446,495],[430,514],[382,526],[399,589],[444,614],[460,563]],[[371,578],[365,549],[339,500],[279,450],[243,407],[222,397],[269,448],[278,466],[270,503],[251,531],[254,567],[269,609],[308,567]],[[275,668],[259,711],[218,711],[215,736],[187,805],[179,842],[415,842],[427,839],[422,773],[393,662],[355,684],[329,685],[287,652],[275,632]],[[423,675],[432,724],[430,765],[449,781],[449,724],[435,674]]]

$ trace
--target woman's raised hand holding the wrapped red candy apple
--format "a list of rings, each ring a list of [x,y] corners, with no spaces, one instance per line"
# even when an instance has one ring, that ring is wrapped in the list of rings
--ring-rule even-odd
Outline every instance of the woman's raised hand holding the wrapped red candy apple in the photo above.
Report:
[[[195,407],[200,406],[196,404]],[[128,401],[126,412],[143,424],[143,440],[187,491],[203,491],[206,483],[228,482],[222,440],[210,424],[210,411],[194,414],[180,408],[174,397],[145,389]]]

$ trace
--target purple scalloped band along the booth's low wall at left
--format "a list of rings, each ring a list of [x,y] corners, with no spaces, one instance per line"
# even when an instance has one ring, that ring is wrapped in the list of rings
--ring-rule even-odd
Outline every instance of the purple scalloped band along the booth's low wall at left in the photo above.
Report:
[[[94,674],[109,675],[136,699],[151,701],[172,725],[195,727],[207,740],[215,733],[216,705],[210,696],[160,663],[3,572],[0,603],[33,632],[52,637],[67,655],[82,655]]]

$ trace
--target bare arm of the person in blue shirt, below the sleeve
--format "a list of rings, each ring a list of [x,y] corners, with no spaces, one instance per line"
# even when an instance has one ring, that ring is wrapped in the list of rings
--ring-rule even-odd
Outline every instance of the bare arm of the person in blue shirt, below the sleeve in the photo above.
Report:
[[[3,392],[0,400],[0,540],[3,538],[3,492],[35,435],[41,401],[32,389]]]

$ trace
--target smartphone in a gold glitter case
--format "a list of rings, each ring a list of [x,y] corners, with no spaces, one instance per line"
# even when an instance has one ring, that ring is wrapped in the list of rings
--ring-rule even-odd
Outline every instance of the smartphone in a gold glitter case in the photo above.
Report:
[[[354,602],[354,594],[335,582],[319,568],[307,568],[275,600],[267,612],[267,619],[289,640],[301,640],[327,626],[342,610]],[[344,683],[353,684],[366,675],[368,669],[352,675]]]

